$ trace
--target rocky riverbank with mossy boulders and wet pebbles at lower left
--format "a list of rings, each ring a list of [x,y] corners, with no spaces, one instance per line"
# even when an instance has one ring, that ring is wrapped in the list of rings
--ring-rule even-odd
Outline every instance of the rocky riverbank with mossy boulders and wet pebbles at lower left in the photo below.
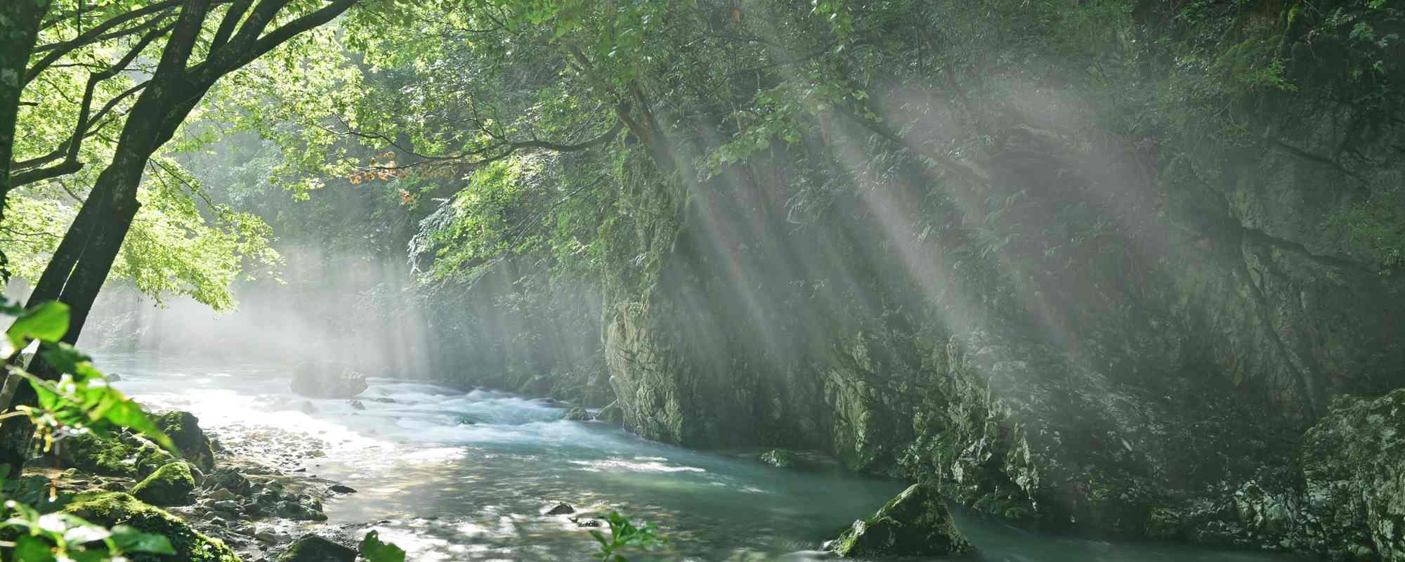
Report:
[[[299,537],[360,540],[322,524],[325,500],[355,493],[305,468],[327,443],[243,424],[205,430],[185,412],[157,423],[183,458],[131,433],[73,436],[27,473],[48,478],[69,513],[163,531],[177,547],[171,561],[298,561],[289,547]]]

